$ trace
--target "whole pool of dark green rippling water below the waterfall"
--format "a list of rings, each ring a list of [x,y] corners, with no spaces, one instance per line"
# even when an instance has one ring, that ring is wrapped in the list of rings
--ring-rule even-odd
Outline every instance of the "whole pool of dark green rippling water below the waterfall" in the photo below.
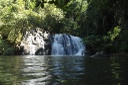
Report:
[[[128,56],[0,56],[0,85],[128,85]]]

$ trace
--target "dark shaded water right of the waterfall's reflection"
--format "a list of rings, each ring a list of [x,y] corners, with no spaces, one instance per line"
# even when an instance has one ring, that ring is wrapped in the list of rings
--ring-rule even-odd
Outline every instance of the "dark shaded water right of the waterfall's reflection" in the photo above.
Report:
[[[128,55],[86,58],[85,85],[128,85]]]

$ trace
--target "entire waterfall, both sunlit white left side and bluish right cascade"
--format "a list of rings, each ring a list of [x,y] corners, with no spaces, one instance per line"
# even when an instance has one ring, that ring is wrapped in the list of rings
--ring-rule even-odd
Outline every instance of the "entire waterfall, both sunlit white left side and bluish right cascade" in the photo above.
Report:
[[[20,44],[22,54],[29,55],[84,55],[81,38],[69,34],[55,34],[39,28],[26,31]]]

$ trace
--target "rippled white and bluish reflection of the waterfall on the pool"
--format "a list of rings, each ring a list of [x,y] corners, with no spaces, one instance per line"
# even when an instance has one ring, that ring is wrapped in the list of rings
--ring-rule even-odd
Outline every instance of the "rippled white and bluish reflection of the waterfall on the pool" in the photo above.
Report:
[[[23,74],[26,85],[60,84],[78,80],[84,74],[83,56],[24,56]],[[29,79],[30,78],[30,79]]]

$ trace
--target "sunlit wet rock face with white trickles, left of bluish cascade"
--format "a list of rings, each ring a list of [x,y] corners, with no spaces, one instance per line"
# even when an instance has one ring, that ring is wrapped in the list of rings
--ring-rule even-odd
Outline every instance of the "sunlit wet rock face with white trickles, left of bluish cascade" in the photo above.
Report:
[[[50,55],[49,37],[49,32],[39,28],[27,31],[20,44],[20,47],[23,49],[22,54]]]

